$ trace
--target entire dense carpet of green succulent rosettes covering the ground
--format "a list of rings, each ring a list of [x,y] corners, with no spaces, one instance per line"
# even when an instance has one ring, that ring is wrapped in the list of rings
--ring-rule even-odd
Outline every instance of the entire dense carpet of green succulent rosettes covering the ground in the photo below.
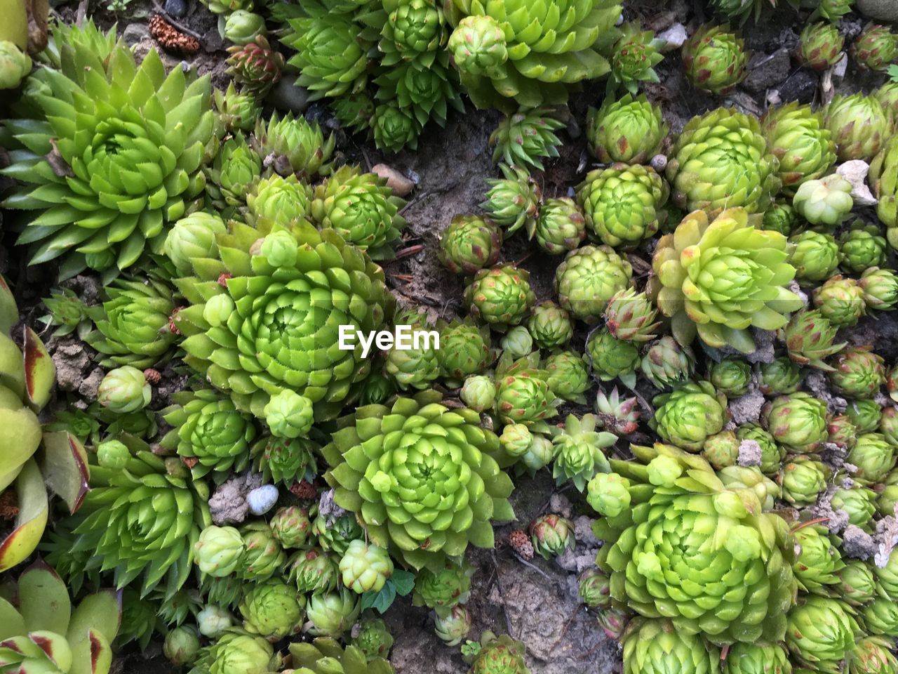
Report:
[[[159,638],[191,674],[391,674],[409,595],[470,674],[528,674],[473,638],[474,549],[598,538],[577,589],[625,672],[898,674],[898,364],[865,320],[898,308],[894,84],[726,105],[769,3],[711,0],[674,58],[713,103],[672,135],[672,49],[615,0],[203,4],[224,90],[92,21],[0,31],[4,236],[39,270],[0,279],[0,672]],[[851,3],[796,4],[833,67]],[[881,77],[898,38],[848,51]],[[390,152],[497,108],[482,201],[424,232],[275,87]],[[431,253],[445,305],[394,292]],[[532,480],[576,510],[518,521]]]

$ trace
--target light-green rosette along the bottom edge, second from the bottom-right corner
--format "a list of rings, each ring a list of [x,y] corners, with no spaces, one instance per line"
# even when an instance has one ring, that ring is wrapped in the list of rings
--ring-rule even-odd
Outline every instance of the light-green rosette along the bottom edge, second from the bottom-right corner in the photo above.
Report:
[[[798,664],[835,674],[855,650],[858,633],[850,606],[839,599],[810,595],[789,611],[786,646]]]

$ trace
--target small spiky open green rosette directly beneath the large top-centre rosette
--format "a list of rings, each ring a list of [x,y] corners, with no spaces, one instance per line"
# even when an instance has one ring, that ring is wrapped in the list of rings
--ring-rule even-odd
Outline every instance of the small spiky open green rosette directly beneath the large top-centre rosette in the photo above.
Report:
[[[550,116],[549,108],[522,109],[508,115],[489,137],[495,146],[493,161],[500,160],[513,167],[528,166],[542,171],[541,157],[557,157],[561,140],[555,135],[564,122]]]

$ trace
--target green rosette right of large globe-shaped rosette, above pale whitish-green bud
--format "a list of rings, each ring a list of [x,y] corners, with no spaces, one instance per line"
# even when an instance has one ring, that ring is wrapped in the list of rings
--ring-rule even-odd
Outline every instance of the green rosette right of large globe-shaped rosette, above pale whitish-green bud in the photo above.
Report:
[[[823,126],[823,115],[810,105],[791,102],[771,107],[761,126],[770,154],[779,159],[779,179],[787,196],[804,182],[823,178],[836,163],[832,134]]]

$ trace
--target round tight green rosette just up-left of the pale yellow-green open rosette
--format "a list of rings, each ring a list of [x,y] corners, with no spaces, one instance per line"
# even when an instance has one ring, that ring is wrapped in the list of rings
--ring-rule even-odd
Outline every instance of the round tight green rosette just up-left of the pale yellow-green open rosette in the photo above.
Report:
[[[666,215],[667,185],[655,170],[641,164],[612,164],[586,174],[577,202],[586,224],[603,244],[633,248],[658,231]]]

